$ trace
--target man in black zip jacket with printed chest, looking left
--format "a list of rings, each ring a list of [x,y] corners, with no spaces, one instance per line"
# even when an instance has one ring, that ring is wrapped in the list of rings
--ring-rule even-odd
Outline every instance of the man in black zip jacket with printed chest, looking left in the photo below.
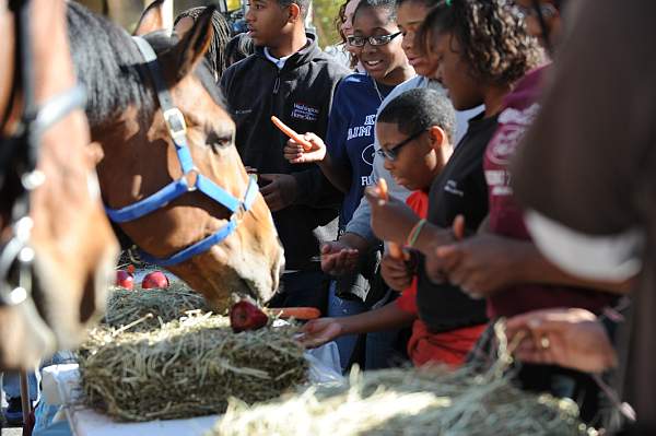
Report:
[[[283,157],[288,138],[276,115],[300,133],[325,137],[332,94],[349,71],[305,33],[309,0],[253,0],[246,14],[256,54],[232,66],[221,85],[237,125],[237,149],[259,175],[285,251],[282,290],[272,305],[325,309],[329,278],[319,247],[337,237],[341,196],[316,164]]]

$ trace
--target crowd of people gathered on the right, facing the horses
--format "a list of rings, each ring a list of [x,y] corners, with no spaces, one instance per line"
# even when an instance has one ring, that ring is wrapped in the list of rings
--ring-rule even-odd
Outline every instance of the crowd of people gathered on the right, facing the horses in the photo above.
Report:
[[[629,30],[654,5],[618,5],[625,22],[613,22],[608,0],[349,0],[336,17],[342,40],[324,51],[304,26],[309,3],[251,0],[248,34],[229,42],[216,21],[208,54],[284,247],[271,306],[319,308],[301,340],[336,341],[343,372],[482,367],[495,358],[493,326],[503,319],[517,344],[517,386],[571,398],[585,422],[611,432],[656,432],[651,325],[631,295],[640,282],[637,297],[653,303],[644,296],[653,276],[589,273],[617,267],[595,267],[599,250],[619,249],[622,261],[652,254],[653,99],[637,90],[653,89],[654,56],[637,46],[653,31]],[[176,32],[196,16],[180,15]],[[624,60],[614,68],[645,66],[621,75],[637,81],[628,92],[644,98],[644,113],[617,96],[604,47],[626,48],[613,52]],[[593,78],[601,70],[606,81]],[[596,110],[622,113],[625,125]],[[621,132],[634,123],[640,133]],[[616,163],[624,138],[640,150],[632,167]],[[597,169],[601,160],[614,172]],[[640,207],[614,176],[642,192]],[[608,212],[619,205],[623,213]],[[628,248],[581,235],[639,226],[642,241]]]

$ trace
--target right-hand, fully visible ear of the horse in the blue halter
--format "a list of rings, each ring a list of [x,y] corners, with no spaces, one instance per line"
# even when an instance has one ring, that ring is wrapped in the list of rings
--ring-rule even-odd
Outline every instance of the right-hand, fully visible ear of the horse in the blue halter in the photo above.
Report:
[[[214,7],[207,7],[200,14],[194,26],[185,34],[185,36],[176,45],[174,51],[174,60],[177,62],[177,80],[181,80],[185,75],[194,71],[196,64],[202,59],[204,52],[210,47],[210,43],[214,37],[212,27],[212,14]]]

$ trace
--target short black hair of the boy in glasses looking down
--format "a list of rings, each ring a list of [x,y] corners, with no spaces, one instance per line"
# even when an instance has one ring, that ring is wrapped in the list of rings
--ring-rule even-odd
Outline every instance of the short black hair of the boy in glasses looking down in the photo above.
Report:
[[[414,134],[437,126],[452,142],[456,129],[456,111],[444,92],[418,87],[406,91],[389,102],[380,110],[376,121],[397,125],[403,134]]]

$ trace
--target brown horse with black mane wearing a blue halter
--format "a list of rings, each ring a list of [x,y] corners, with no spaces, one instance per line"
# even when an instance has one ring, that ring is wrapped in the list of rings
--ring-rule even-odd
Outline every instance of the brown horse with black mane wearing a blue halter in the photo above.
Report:
[[[163,31],[162,3],[144,11],[138,38],[69,3],[69,40],[90,96],[103,200],[142,259],[216,308],[227,307],[232,293],[267,302],[278,288],[283,251],[202,61],[213,8],[178,38]]]

